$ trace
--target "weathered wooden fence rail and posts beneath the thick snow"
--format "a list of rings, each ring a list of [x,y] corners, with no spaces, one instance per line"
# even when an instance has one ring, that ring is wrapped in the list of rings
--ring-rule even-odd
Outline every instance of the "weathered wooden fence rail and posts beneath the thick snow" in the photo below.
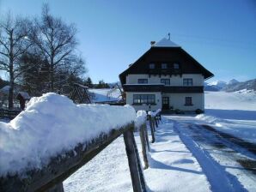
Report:
[[[156,117],[150,117],[151,124],[156,125]],[[149,119],[150,119],[149,118]],[[149,120],[150,121],[150,120]],[[152,129],[151,129],[152,130]],[[120,129],[112,129],[109,134],[101,134],[97,138],[86,143],[80,143],[69,152],[59,154],[51,159],[50,163],[42,169],[34,169],[23,173],[27,177],[21,177],[18,174],[14,176],[0,177],[0,191],[47,191],[63,192],[63,181],[70,177],[75,171],[93,159],[105,147],[112,143],[120,135],[124,135],[125,150],[128,158],[131,182],[133,191],[147,191],[146,183],[143,177],[142,165],[137,153],[137,145],[133,135],[134,123],[130,123]],[[143,123],[139,129],[142,149],[144,168],[149,167],[146,150],[149,151],[149,136],[146,123]],[[155,129],[151,132],[152,142]],[[155,139],[154,139],[155,141]],[[74,153],[76,152],[76,153]]]

